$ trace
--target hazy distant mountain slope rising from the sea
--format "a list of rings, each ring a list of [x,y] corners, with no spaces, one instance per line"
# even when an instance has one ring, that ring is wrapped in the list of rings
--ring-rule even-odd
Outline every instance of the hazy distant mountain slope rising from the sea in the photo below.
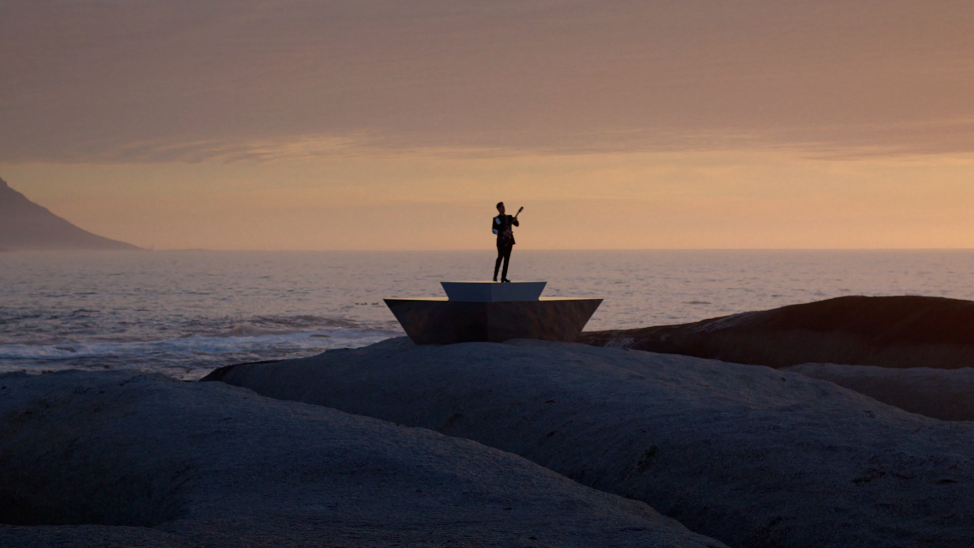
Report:
[[[0,251],[138,249],[78,228],[31,202],[0,178]]]

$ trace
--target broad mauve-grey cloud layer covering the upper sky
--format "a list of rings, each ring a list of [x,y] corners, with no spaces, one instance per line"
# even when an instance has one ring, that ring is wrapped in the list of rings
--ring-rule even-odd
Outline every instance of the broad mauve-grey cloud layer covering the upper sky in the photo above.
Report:
[[[974,150],[974,4],[10,0],[0,161]]]

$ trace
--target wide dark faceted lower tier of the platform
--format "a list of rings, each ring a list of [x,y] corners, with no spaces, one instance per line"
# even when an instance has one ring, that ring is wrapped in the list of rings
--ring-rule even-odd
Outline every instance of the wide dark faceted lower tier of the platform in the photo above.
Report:
[[[504,342],[541,338],[572,342],[601,298],[542,298],[470,302],[445,298],[387,298],[409,338],[416,344]]]

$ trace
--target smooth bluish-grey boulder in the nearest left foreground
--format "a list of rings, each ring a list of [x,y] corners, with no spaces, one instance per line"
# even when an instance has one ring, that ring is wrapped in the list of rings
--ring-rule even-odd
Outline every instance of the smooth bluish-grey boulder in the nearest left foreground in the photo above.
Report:
[[[0,375],[0,546],[723,548],[524,458],[137,372]]]

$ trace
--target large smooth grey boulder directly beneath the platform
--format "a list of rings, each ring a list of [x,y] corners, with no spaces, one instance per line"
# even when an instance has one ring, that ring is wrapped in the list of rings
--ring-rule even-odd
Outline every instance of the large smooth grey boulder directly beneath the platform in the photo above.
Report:
[[[209,378],[508,450],[734,547],[974,539],[974,424],[795,372],[577,343],[401,337]]]

